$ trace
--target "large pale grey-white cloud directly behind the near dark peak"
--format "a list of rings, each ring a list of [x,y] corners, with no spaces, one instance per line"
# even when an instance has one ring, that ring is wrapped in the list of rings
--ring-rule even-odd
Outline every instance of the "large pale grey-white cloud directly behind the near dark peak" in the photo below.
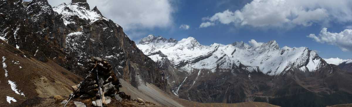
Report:
[[[71,0],[48,0],[54,7]],[[87,0],[90,9],[97,6],[108,19],[121,25],[125,31],[168,28],[173,24],[175,11],[171,0]]]

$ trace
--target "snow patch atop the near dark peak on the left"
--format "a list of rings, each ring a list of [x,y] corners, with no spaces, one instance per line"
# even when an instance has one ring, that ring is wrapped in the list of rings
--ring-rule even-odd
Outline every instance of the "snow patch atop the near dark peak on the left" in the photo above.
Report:
[[[108,20],[98,10],[98,8],[94,7],[93,10],[89,10],[89,5],[85,0],[72,0],[72,2],[66,4],[63,3],[52,9],[62,14],[65,25],[70,23],[75,23],[74,20],[71,20],[71,17],[77,16],[80,19],[87,20],[89,23],[93,23],[96,20],[103,19]]]

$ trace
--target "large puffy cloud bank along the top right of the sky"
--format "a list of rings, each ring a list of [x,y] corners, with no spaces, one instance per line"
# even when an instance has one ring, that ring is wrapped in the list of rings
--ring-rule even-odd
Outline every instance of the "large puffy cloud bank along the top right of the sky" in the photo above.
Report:
[[[310,26],[313,23],[327,23],[332,20],[351,22],[351,3],[351,0],[253,0],[241,10],[225,10],[202,20],[254,27]]]

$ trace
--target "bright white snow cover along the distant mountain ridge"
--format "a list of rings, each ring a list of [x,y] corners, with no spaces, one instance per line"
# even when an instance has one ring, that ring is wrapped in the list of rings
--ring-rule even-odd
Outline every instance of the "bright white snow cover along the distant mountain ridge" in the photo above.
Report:
[[[172,41],[172,42],[168,42]],[[174,63],[174,65],[179,65],[180,63],[184,63],[182,61],[191,61],[196,57],[205,57],[208,54],[206,53],[214,53],[217,52],[218,55],[214,57],[221,58],[219,60],[212,59],[214,61],[227,61],[227,63],[235,64],[235,66],[239,66],[239,63],[245,66],[258,66],[260,67],[263,73],[268,73],[269,75],[279,75],[285,69],[293,66],[301,69],[302,71],[310,71],[313,72],[316,69],[319,69],[320,65],[326,65],[324,61],[321,61],[322,58],[319,57],[314,51],[309,50],[307,47],[299,47],[299,48],[290,48],[290,47],[283,47],[279,48],[279,45],[275,40],[269,41],[267,43],[263,43],[258,47],[250,46],[244,42],[234,42],[232,44],[219,44],[214,43],[210,46],[201,45],[199,42],[195,40],[193,37],[184,38],[180,41],[177,41],[170,38],[169,40],[163,38],[161,36],[155,37],[153,35],[149,35],[146,38],[143,38],[140,43],[137,45],[146,55],[150,55],[150,57],[154,61],[158,61],[158,59],[166,58],[157,56],[159,51],[162,54],[166,55],[167,58]],[[175,52],[177,51],[177,52]],[[182,51],[182,54],[180,53]],[[221,52],[219,52],[221,51]],[[248,53],[246,51],[251,51]],[[205,53],[205,54],[200,54]],[[255,53],[255,54],[254,54]],[[152,54],[152,55],[151,55]],[[243,54],[238,56],[233,56],[233,54]],[[265,56],[260,56],[260,54],[265,54]],[[283,55],[285,54],[285,55]],[[287,55],[288,54],[288,55]],[[179,57],[184,56],[186,57]],[[275,56],[276,55],[276,56]],[[293,56],[292,58],[284,58],[284,56]],[[232,58],[231,58],[232,57]],[[236,58],[233,58],[236,57]],[[248,58],[249,60],[244,60],[244,58]],[[256,58],[257,57],[257,58]],[[261,58],[265,57],[265,58]],[[266,64],[274,65],[275,67],[272,68],[265,68],[263,63],[266,63],[265,60],[274,61],[274,63]],[[227,60],[223,60],[222,58],[227,58]],[[242,59],[241,59],[242,58]],[[282,61],[277,61],[278,59],[282,58]],[[293,60],[290,60],[293,59]],[[288,61],[285,61],[288,60]],[[313,61],[314,60],[314,61]],[[256,64],[252,64],[256,63]],[[287,63],[287,64],[282,64]],[[203,62],[206,64],[206,62]],[[202,67],[196,67],[194,65],[190,65],[193,68],[202,69]],[[213,65],[213,69],[216,65]],[[284,67],[280,67],[284,66]],[[221,67],[221,66],[220,66]],[[223,66],[225,67],[225,65]],[[212,69],[212,68],[207,68]],[[190,69],[188,69],[190,70]]]

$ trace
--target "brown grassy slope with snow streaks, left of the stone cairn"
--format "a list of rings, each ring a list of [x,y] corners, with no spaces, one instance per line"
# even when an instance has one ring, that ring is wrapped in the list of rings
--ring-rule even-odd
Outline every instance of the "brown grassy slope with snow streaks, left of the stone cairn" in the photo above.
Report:
[[[38,103],[38,97],[68,96],[71,93],[70,87],[82,79],[51,60],[42,63],[32,57],[0,40],[0,61],[5,58],[8,73],[5,77],[4,64],[1,62],[0,106],[31,106],[32,103]],[[9,80],[15,82],[16,89],[24,95],[16,94],[11,89]],[[14,97],[17,102],[8,103],[7,96]]]

